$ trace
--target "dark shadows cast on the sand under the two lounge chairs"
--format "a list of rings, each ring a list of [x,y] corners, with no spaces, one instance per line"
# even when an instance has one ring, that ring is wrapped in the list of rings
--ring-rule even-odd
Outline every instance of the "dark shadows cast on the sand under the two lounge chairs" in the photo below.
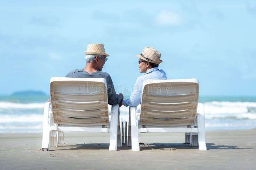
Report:
[[[206,144],[207,150],[214,149],[252,149],[252,148],[241,148],[237,145],[215,145],[214,143]],[[108,150],[108,143],[90,143],[90,144],[61,144],[58,147],[52,147],[51,151],[57,150]],[[131,150],[131,147],[127,147],[126,144],[123,144],[122,147],[117,147],[117,151],[120,150]],[[149,143],[149,144],[140,144],[140,151],[143,150],[176,150],[176,149],[198,149],[198,146],[190,146],[187,143]]]

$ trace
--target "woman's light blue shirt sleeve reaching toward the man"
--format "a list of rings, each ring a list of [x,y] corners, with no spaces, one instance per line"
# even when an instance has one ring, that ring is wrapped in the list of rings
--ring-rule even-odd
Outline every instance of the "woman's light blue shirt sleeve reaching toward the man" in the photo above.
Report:
[[[138,77],[132,91],[130,99],[123,100],[122,104],[124,106],[138,106],[141,102],[143,80],[141,77]]]

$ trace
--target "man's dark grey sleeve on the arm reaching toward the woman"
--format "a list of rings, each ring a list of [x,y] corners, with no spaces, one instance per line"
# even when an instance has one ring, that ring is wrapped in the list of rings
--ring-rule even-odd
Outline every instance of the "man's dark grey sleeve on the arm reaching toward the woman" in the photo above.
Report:
[[[113,81],[108,74],[107,76],[107,89],[108,89],[108,104],[111,106],[115,106],[116,104],[120,103],[122,97],[116,94]]]

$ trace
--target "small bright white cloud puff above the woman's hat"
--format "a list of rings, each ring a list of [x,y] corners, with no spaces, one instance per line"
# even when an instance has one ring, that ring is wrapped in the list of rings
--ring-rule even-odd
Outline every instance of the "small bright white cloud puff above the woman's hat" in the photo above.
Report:
[[[167,10],[160,11],[155,20],[156,23],[161,26],[179,26],[181,24],[180,15]]]

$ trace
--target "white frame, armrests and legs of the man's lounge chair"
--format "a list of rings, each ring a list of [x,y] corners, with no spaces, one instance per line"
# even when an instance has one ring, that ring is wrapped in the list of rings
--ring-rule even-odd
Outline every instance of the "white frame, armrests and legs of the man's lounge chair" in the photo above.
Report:
[[[58,79],[53,77],[51,82]],[[77,80],[88,81],[88,78],[60,78],[59,81]],[[90,78],[95,79],[95,78]],[[105,79],[104,79],[105,80]],[[106,84],[106,80],[105,80]],[[109,105],[110,106],[110,105]],[[116,151],[117,147],[122,146],[122,125],[120,123],[119,105],[111,107],[111,112],[108,113],[110,121],[108,125],[61,125],[54,123],[52,114],[52,106],[50,102],[46,102],[44,105],[44,122],[43,122],[43,138],[42,138],[42,150],[48,151],[51,146],[57,147],[59,144],[64,144],[63,131],[77,131],[77,132],[108,132],[110,133],[109,151]]]

